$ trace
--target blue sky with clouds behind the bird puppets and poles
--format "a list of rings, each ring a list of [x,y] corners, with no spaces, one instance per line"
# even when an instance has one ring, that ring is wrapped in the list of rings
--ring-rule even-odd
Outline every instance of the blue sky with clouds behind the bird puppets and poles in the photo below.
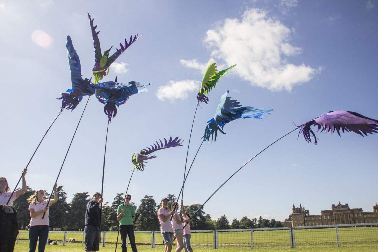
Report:
[[[0,176],[15,186],[37,144],[59,113],[60,92],[71,88],[65,42],[72,39],[83,77],[91,76],[93,43],[87,12],[102,50],[143,34],[103,81],[149,82],[130,97],[109,126],[104,199],[125,192],[131,156],[158,139],[180,136],[185,147],[156,152],[135,172],[129,193],[160,201],[178,195],[203,71],[236,64],[201,104],[188,163],[222,94],[243,106],[274,108],[263,120],[227,124],[226,135],[204,144],[186,182],[184,204],[202,204],[220,184],[271,142],[330,110],[378,119],[378,2],[370,1],[0,1],[3,109]],[[49,192],[88,97],[51,127],[28,167],[33,189]],[[58,185],[101,190],[107,126],[103,105],[91,97]],[[376,196],[377,135],[318,133],[318,145],[295,131],[251,161],[206,204],[213,219],[284,220],[292,204],[320,214],[341,201],[372,211]]]

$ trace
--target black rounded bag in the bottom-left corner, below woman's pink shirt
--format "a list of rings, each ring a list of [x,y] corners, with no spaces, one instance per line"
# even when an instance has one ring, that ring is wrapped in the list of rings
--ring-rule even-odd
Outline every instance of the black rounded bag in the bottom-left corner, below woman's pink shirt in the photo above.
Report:
[[[19,234],[17,212],[13,207],[0,205],[0,252],[13,252]]]

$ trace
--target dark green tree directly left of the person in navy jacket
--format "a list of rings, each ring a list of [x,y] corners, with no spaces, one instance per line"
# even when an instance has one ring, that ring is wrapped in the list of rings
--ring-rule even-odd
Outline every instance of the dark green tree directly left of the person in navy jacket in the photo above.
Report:
[[[89,198],[88,192],[75,193],[73,199],[70,203],[70,209],[68,210],[68,219],[64,230],[77,231],[79,229],[84,230],[85,225],[85,207],[87,203],[91,200]]]

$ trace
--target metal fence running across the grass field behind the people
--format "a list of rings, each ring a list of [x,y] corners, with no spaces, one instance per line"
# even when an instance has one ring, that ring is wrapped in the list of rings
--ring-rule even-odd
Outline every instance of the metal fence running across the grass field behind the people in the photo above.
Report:
[[[101,232],[102,246],[115,247],[118,232]],[[84,246],[84,232],[52,231],[49,238],[59,245]],[[73,240],[74,239],[74,240]],[[28,242],[28,232],[20,231],[18,243]],[[163,248],[160,231],[135,231],[138,247]],[[118,237],[118,246],[121,236]],[[378,246],[378,223],[280,227],[264,229],[192,230],[195,249],[279,249],[295,247]],[[129,244],[128,244],[129,246]],[[176,246],[174,242],[174,246]]]

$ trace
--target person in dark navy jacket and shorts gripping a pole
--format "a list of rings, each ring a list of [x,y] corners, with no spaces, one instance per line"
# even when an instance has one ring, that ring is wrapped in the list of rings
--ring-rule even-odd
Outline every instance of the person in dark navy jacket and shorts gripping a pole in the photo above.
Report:
[[[101,209],[100,204],[104,201],[101,193],[95,192],[93,198],[85,207],[85,252],[98,251],[101,241]]]

